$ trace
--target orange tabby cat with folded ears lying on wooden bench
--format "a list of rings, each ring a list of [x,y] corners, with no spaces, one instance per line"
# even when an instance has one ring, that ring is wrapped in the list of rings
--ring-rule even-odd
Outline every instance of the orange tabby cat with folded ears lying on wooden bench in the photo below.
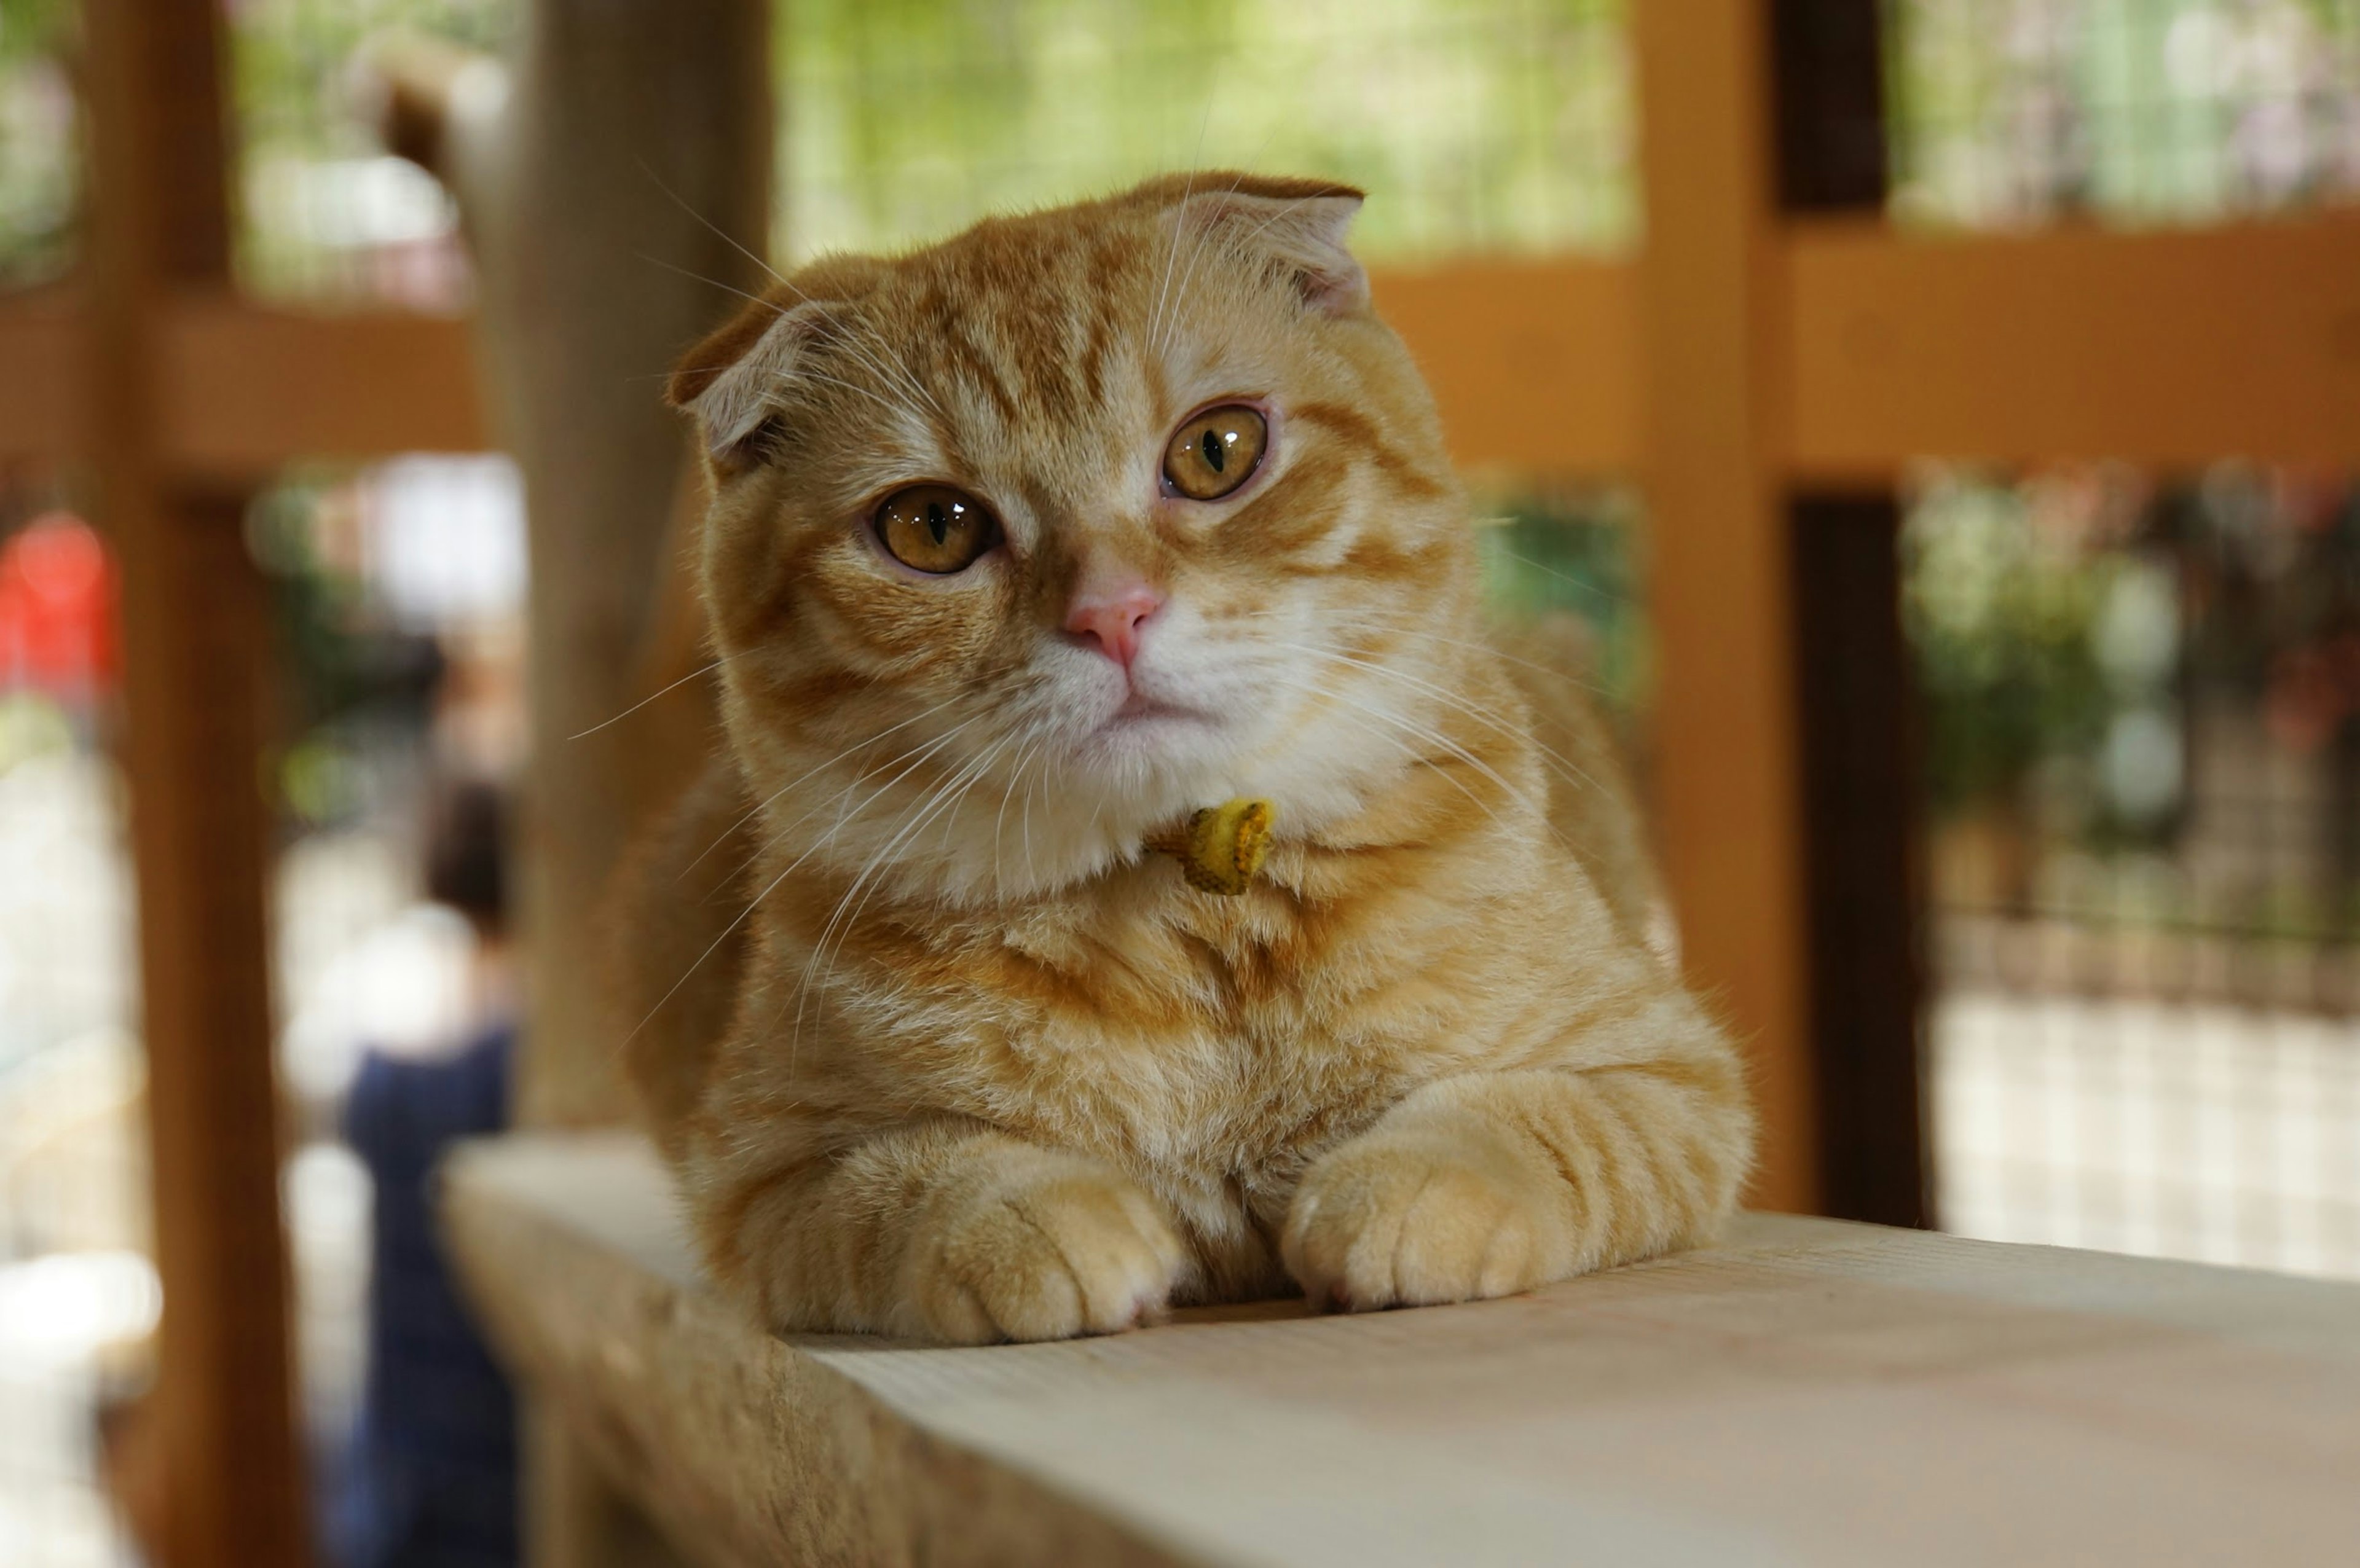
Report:
[[[1737,1056],[1645,943],[1607,747],[1484,639],[1359,200],[1171,177],[831,257],[675,375],[729,745],[618,967],[769,1323],[1461,1302],[1728,1214]],[[1244,896],[1142,851],[1241,795]]]

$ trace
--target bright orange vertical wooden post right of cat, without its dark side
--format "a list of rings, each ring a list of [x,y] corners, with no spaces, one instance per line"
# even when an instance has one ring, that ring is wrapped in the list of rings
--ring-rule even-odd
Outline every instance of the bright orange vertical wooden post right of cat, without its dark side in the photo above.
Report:
[[[1645,467],[1664,868],[1697,988],[1746,1042],[1749,1203],[1815,1210],[1770,33],[1761,0],[1645,0]]]

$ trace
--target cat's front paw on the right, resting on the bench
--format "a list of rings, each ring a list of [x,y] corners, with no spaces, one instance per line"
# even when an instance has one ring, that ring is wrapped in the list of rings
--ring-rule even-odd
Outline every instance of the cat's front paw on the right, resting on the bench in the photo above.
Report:
[[[1546,1285],[1572,1254],[1562,1193],[1496,1151],[1371,1134],[1303,1177],[1279,1257],[1319,1309],[1435,1306]]]

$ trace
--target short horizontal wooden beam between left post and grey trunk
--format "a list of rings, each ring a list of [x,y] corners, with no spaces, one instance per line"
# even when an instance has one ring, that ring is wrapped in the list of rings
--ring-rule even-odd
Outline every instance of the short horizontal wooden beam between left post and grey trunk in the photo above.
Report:
[[[460,318],[304,316],[191,295],[175,299],[156,351],[163,455],[191,476],[491,441]]]

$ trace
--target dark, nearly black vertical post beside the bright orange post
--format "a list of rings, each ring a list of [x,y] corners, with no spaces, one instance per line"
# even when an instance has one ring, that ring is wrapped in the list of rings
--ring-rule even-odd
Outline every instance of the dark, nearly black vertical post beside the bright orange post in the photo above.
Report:
[[[1775,0],[1779,198],[1787,212],[1886,205],[1883,7]],[[1820,1207],[1928,1224],[1919,766],[1900,625],[1900,505],[1796,493],[1791,533],[1810,1063]]]

